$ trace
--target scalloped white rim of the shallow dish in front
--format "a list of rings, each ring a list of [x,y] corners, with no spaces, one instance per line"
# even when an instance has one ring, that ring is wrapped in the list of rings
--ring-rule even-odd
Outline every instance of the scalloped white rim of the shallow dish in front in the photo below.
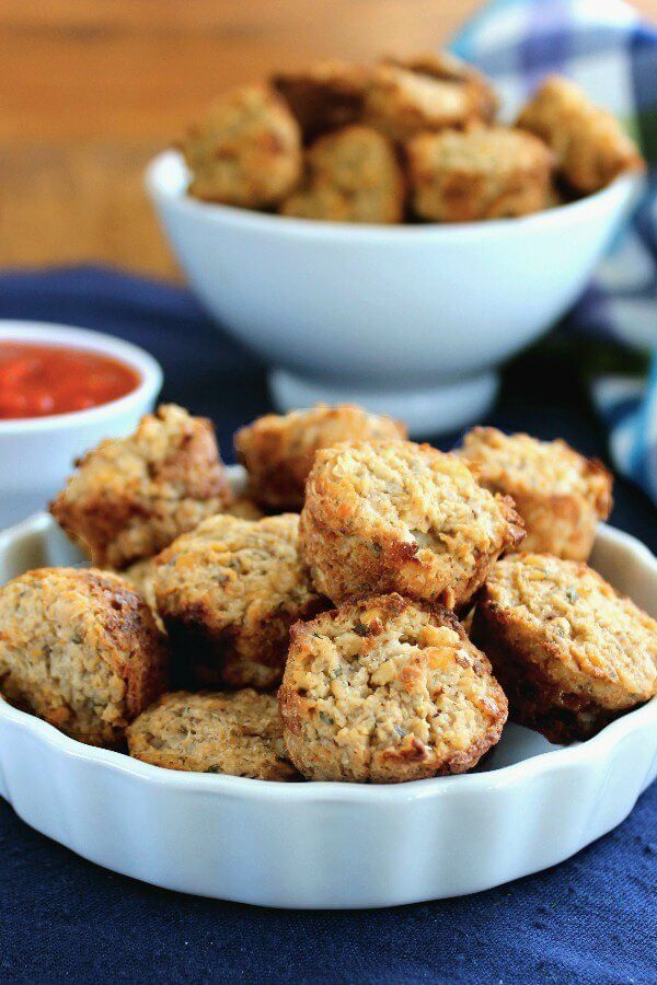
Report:
[[[238,476],[241,473],[242,470],[239,466],[231,468],[231,476],[234,482],[238,480]],[[55,528],[56,524],[51,517],[47,513],[36,513],[16,526],[0,533],[0,553],[21,537],[46,536],[48,530]],[[638,560],[645,567],[646,577],[654,580],[657,590],[657,557],[641,541],[604,523],[599,525],[598,537]],[[468,790],[482,793],[502,786],[516,786],[539,774],[552,774],[576,764],[590,763],[592,765],[607,755],[611,749],[619,745],[635,729],[643,728],[649,723],[657,728],[657,697],[616,718],[586,742],[555,748],[486,773],[434,777],[389,786],[345,783],[286,784],[277,780],[263,781],[221,774],[178,773],[142,763],[139,760],[134,760],[126,754],[112,750],[84,745],[65,735],[64,732],[58,731],[54,726],[42,719],[12,707],[1,698],[0,717],[8,718],[14,725],[20,726],[21,729],[30,732],[39,742],[57,749],[65,757],[83,758],[97,763],[104,768],[123,773],[127,772],[140,777],[149,785],[165,785],[189,791],[203,790],[206,793],[211,791],[218,796],[232,793],[250,800],[268,800],[269,798],[278,799],[284,797],[287,800],[291,799],[301,802],[339,801],[344,803],[373,800],[379,803],[388,803],[391,801],[399,802],[400,800],[415,801],[425,797],[447,793],[454,784],[460,789],[464,789],[468,786]]]

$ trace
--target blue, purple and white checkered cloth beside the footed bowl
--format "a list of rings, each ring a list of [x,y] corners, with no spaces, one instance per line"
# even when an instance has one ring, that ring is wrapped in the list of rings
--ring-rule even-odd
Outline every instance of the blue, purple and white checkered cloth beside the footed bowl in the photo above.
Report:
[[[657,30],[621,0],[493,0],[451,47],[493,77],[509,118],[545,74],[568,76],[648,160],[642,202],[568,324],[652,358],[646,375],[598,376],[592,396],[614,464],[657,502]]]

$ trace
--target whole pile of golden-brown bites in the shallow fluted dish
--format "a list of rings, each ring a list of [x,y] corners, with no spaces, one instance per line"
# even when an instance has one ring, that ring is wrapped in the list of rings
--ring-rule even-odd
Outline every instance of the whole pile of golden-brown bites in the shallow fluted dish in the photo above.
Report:
[[[239,497],[166,405],[77,463],[50,511],[93,567],[0,588],[9,702],[171,769],[401,783],[657,693],[657,623],[586,563],[611,477],[565,442],[318,406],[235,450]]]

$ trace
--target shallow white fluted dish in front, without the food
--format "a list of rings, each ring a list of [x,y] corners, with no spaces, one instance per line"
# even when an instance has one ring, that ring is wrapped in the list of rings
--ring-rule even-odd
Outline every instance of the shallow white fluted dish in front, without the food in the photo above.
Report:
[[[46,514],[0,534],[0,582],[79,559]],[[646,547],[600,526],[592,563],[657,616]],[[392,787],[160,769],[0,700],[0,795],[27,824],[145,882],[266,906],[389,906],[498,885],[615,827],[656,772],[657,698],[567,749],[507,726],[481,770]]]

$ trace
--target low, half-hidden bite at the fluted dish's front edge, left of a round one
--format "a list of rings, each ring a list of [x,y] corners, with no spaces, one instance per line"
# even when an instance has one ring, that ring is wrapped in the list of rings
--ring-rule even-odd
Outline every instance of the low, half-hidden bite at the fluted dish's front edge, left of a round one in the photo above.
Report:
[[[130,755],[187,773],[295,780],[272,694],[218,691],[165,694],[127,731]]]

